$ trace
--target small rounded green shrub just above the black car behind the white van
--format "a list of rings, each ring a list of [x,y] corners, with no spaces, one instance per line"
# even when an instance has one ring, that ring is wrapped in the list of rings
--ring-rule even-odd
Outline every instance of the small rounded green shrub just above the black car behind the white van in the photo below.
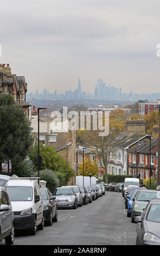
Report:
[[[60,186],[60,180],[57,178],[55,172],[51,169],[40,170],[40,179],[47,181],[46,186],[49,188],[50,192],[54,192],[56,187]]]

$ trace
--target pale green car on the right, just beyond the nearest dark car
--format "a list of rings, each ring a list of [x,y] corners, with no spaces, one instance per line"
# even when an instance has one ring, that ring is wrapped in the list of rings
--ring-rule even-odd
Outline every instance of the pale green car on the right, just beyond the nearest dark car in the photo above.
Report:
[[[140,188],[133,199],[131,222],[135,222],[135,217],[143,214],[146,205],[151,199],[157,199],[159,192],[156,190],[143,190]]]

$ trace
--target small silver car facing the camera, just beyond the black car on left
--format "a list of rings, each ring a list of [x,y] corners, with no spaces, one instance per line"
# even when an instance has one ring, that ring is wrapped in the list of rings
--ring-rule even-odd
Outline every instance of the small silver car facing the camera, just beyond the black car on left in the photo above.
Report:
[[[57,187],[54,192],[57,208],[78,208],[78,198],[73,187]]]

